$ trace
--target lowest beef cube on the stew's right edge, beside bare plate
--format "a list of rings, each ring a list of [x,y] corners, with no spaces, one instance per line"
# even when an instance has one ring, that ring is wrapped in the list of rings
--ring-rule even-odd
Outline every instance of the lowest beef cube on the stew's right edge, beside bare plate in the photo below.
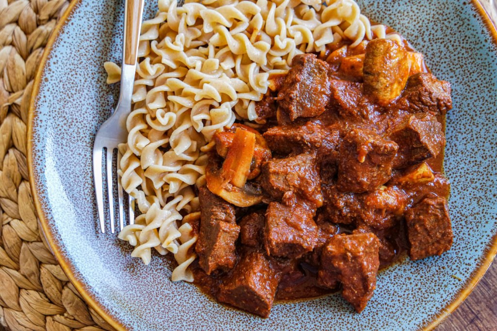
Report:
[[[452,228],[445,198],[425,198],[406,212],[409,257],[420,260],[441,255],[452,246]]]

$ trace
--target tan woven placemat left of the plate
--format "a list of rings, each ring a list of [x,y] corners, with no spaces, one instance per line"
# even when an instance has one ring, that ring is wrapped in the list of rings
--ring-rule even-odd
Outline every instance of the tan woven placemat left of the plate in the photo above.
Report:
[[[0,0],[0,324],[8,330],[113,330],[81,298],[38,228],[26,124],[47,40],[67,0]]]

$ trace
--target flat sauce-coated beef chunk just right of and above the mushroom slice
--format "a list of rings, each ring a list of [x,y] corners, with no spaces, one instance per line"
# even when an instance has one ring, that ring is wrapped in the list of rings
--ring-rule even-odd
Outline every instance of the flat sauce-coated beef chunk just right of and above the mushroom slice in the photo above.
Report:
[[[303,126],[278,126],[264,132],[269,148],[279,154],[301,152],[303,148],[317,149],[318,154],[337,155],[339,134],[314,122]]]

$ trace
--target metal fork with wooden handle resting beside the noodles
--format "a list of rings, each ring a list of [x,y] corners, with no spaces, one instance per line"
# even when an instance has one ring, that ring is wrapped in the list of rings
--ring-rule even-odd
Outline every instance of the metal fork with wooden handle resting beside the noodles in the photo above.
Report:
[[[125,0],[124,5],[124,37],[123,37],[123,60],[121,66],[121,91],[117,107],[112,115],[105,121],[98,132],[96,132],[93,143],[93,181],[95,184],[95,196],[100,220],[100,230],[105,233],[104,205],[103,205],[103,175],[102,155],[105,149],[106,173],[107,173],[107,195],[109,202],[110,232],[114,233],[114,195],[112,157],[117,144],[126,141],[127,130],[125,128],[126,117],[131,111],[131,95],[133,94],[133,83],[137,63],[138,43],[140,38],[140,27],[142,24],[144,0]],[[121,155],[117,151],[117,166],[121,161]],[[116,169],[117,173],[117,169]],[[123,190],[121,178],[117,174],[117,195],[119,204],[119,228],[124,227],[123,212]],[[128,196],[129,223],[134,222],[132,208],[133,198]]]

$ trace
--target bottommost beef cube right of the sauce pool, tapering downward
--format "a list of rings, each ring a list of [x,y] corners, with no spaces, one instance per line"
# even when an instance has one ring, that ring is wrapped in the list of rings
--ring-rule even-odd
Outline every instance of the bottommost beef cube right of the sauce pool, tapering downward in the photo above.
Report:
[[[338,278],[343,285],[343,298],[360,313],[376,288],[378,247],[373,233],[333,236],[323,249],[318,282],[334,287],[333,280]]]

